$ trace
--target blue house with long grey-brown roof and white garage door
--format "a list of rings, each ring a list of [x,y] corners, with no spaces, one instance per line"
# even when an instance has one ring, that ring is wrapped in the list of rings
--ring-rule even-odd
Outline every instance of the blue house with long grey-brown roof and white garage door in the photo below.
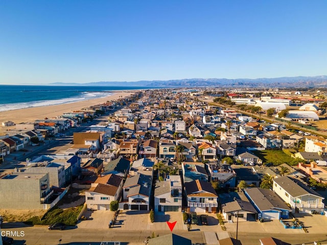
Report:
[[[245,188],[244,193],[258,211],[259,217],[264,219],[289,218],[292,210],[272,190],[254,187]]]

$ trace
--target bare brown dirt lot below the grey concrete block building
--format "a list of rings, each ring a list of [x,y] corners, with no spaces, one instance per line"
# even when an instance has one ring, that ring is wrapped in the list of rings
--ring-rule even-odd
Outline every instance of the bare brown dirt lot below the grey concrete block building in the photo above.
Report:
[[[4,222],[22,222],[33,216],[43,216],[46,210],[43,209],[0,209],[0,215],[4,217]]]

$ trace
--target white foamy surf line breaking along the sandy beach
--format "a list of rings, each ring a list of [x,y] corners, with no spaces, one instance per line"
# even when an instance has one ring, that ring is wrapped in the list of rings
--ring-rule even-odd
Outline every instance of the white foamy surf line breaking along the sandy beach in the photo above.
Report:
[[[12,103],[12,104],[2,104],[0,105],[0,111],[9,111],[9,110],[16,110],[16,109],[24,109],[29,107],[39,107],[39,106],[51,106],[51,105],[60,105],[60,104],[67,104],[73,103],[78,101],[96,99],[96,98],[103,98],[110,96],[112,93],[103,93],[103,92],[96,92],[89,95],[89,93],[83,93],[81,97],[71,97],[65,98],[60,100],[48,100],[48,101],[32,101],[32,102],[24,102],[24,103]]]

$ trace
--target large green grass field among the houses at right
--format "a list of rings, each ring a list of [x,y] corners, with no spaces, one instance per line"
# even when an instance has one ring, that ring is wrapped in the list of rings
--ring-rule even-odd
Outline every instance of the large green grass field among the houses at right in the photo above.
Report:
[[[254,155],[258,156],[262,163],[271,162],[275,166],[287,163],[291,166],[297,165],[298,162],[303,160],[290,157],[286,155],[282,150],[265,150],[265,151],[254,151]]]

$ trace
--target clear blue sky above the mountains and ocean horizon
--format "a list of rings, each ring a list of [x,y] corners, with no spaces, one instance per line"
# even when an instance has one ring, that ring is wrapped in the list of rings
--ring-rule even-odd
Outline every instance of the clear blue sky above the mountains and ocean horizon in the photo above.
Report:
[[[327,75],[327,1],[0,1],[0,84]]]

